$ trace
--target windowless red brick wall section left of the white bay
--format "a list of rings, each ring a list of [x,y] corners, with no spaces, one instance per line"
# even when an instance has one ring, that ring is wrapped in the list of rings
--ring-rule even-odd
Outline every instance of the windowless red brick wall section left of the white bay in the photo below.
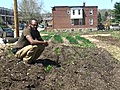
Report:
[[[69,28],[71,27],[70,15],[67,14],[68,7],[55,8],[53,13],[53,28]]]

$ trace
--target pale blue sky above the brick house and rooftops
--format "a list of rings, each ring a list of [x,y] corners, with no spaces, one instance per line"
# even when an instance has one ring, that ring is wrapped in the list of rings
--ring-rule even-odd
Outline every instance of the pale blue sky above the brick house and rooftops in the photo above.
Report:
[[[38,0],[39,1],[39,0]],[[44,10],[51,12],[54,6],[82,6],[83,2],[86,6],[98,6],[98,9],[114,9],[115,2],[118,0],[43,0]],[[12,9],[14,0],[0,0],[0,7]]]

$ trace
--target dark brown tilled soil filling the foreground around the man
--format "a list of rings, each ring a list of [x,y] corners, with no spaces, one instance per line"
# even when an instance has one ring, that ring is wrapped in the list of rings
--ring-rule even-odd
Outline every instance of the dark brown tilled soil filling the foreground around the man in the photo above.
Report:
[[[0,90],[120,90],[120,63],[102,48],[52,43],[34,64],[1,55]]]

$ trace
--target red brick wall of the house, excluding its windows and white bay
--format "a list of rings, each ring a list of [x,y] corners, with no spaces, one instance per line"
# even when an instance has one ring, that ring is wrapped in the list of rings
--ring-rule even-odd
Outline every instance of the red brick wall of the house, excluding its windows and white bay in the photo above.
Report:
[[[89,14],[89,10],[93,9],[93,15]],[[53,29],[62,29],[62,28],[95,28],[98,24],[97,21],[97,7],[85,7],[85,25],[71,25],[70,14],[67,14],[67,10],[70,10],[69,7],[54,7],[52,10],[53,13]],[[89,25],[89,19],[94,20],[93,25]]]

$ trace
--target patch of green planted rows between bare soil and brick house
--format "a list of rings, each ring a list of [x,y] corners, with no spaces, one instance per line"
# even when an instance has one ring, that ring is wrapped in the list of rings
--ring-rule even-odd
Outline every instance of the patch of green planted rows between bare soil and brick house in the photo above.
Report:
[[[54,38],[55,42],[58,43],[63,43],[63,37],[66,38],[70,44],[77,45],[77,46],[82,46],[82,47],[91,47],[94,46],[93,43],[91,43],[88,39],[81,37],[80,34],[78,33],[68,33],[68,32],[63,32],[63,33],[48,33],[46,36],[42,36],[44,40],[48,41],[52,37]],[[81,41],[82,43],[79,43],[78,41]]]

